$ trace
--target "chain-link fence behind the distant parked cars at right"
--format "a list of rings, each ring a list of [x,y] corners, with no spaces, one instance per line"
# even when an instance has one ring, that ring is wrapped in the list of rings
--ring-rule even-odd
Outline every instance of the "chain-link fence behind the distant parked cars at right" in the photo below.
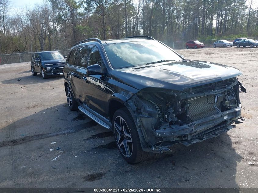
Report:
[[[227,41],[234,41],[236,38],[226,38],[226,39],[223,39],[223,40],[227,40]],[[253,39],[253,40],[257,40],[258,37],[249,37],[247,39]],[[215,41],[218,41],[218,40],[222,40],[222,39],[210,39],[210,40],[198,40],[202,43],[205,44],[205,47],[213,47],[213,43]],[[187,41],[191,41],[191,40],[187,40]],[[171,42],[163,42],[164,44],[168,45],[170,48],[173,48],[173,49],[185,49],[185,43],[187,41],[171,41]]]

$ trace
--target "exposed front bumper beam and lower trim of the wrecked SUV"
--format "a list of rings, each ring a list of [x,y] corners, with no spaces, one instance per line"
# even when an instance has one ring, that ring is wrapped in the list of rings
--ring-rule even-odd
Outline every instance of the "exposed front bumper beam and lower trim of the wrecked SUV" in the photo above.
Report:
[[[169,145],[162,146],[160,150],[166,150],[166,147],[170,147],[176,143],[182,143],[188,146],[227,132],[235,127],[230,124],[240,118],[241,105],[238,108],[222,113],[223,116],[218,113],[174,129],[156,130],[157,137],[162,137],[163,143],[169,142]],[[181,141],[181,139],[185,141]]]

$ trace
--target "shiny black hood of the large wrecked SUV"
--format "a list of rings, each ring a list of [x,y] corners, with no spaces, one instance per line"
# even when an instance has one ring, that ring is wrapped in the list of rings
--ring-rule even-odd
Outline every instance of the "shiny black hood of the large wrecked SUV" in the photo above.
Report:
[[[242,73],[222,64],[184,60],[113,70],[111,78],[138,90],[144,88],[165,88],[183,91],[226,80]]]

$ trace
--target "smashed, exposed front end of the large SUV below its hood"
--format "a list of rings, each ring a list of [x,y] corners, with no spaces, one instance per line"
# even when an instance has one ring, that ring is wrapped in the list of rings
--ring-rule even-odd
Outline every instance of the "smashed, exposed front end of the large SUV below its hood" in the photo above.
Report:
[[[183,91],[145,88],[127,104],[144,150],[164,152],[173,144],[191,145],[234,128],[231,124],[241,116],[239,91],[246,92],[234,77]]]

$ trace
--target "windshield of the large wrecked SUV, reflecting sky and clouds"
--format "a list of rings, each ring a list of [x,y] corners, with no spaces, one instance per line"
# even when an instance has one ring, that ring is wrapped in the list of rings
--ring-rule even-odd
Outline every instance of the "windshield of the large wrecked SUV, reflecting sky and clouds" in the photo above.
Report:
[[[161,60],[182,60],[171,49],[158,41],[134,41],[104,45],[114,69],[146,65]]]

